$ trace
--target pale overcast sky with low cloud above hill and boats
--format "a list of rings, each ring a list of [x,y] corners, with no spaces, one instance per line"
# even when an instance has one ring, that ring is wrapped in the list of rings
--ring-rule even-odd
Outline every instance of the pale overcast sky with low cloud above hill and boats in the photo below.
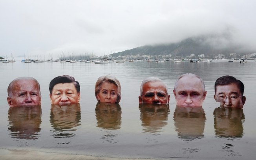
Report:
[[[102,56],[225,32],[254,47],[255,6],[255,0],[0,0],[0,55]]]

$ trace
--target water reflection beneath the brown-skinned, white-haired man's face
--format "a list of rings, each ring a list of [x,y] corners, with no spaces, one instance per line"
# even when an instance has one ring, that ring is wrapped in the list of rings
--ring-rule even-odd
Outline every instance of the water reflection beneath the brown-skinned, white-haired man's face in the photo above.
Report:
[[[168,104],[139,104],[143,131],[150,133],[160,132],[168,124]]]

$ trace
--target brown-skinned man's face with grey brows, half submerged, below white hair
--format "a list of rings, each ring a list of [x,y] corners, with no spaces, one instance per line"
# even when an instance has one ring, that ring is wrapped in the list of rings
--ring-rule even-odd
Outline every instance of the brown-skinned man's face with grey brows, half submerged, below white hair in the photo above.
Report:
[[[166,86],[163,82],[147,82],[143,85],[143,93],[139,96],[139,103],[168,104]]]

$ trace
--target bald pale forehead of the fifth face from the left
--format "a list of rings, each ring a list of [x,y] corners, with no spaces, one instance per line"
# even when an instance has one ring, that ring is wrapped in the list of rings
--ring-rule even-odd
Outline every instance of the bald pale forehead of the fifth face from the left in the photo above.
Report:
[[[176,85],[176,90],[195,90],[202,91],[203,84],[199,78],[196,76],[184,76],[180,78]]]

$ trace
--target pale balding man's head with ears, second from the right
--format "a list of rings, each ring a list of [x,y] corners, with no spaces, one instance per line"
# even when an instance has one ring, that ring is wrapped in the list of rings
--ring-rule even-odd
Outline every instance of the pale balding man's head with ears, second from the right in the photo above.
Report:
[[[206,96],[201,80],[195,76],[180,78],[173,92],[177,106],[202,106]]]

